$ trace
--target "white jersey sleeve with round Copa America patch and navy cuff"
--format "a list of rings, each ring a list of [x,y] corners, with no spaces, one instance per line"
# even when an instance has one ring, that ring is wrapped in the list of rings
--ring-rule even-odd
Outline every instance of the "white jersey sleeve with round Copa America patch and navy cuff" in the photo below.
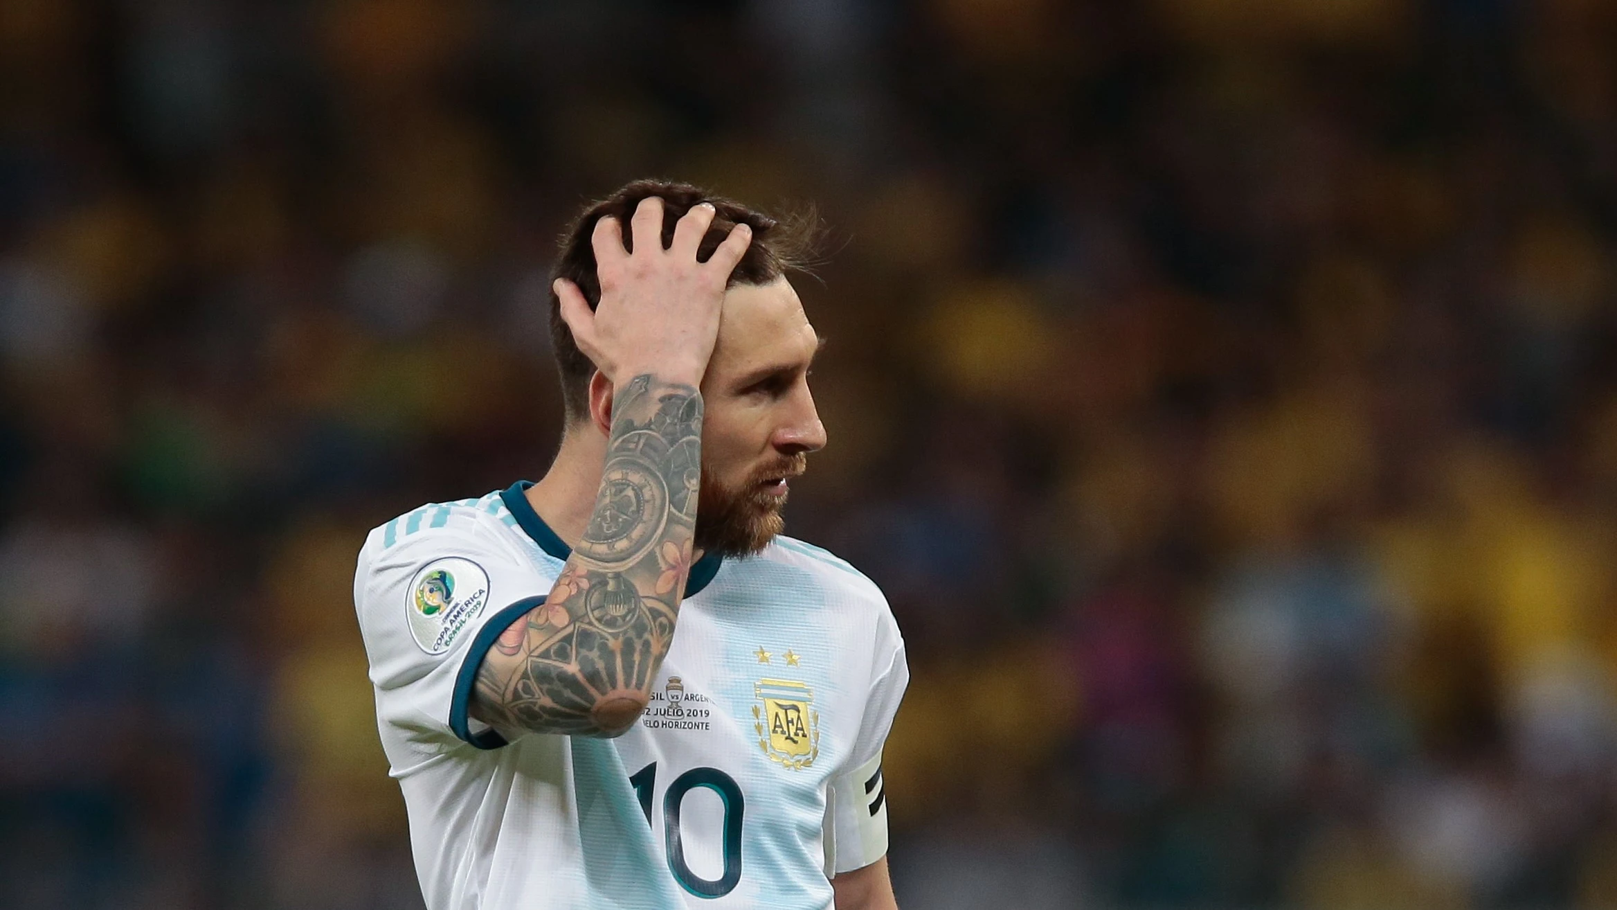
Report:
[[[433,755],[459,742],[505,745],[469,717],[472,683],[495,638],[542,604],[553,580],[485,529],[456,525],[393,546],[372,533],[359,554],[354,606],[385,745]],[[401,756],[390,748],[388,758],[398,772]]]

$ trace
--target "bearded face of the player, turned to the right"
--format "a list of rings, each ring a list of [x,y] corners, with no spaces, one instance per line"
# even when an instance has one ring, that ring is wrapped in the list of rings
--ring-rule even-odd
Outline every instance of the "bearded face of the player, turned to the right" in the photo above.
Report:
[[[724,293],[718,345],[702,379],[697,549],[744,555],[781,533],[787,481],[825,445],[808,393],[818,350],[820,337],[786,279]]]

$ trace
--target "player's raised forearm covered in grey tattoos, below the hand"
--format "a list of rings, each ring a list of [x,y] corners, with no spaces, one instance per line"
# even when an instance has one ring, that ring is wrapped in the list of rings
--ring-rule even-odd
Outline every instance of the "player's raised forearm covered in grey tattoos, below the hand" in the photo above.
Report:
[[[613,402],[595,512],[545,602],[488,649],[472,714],[496,727],[618,735],[674,636],[702,476],[702,395],[631,381]]]

